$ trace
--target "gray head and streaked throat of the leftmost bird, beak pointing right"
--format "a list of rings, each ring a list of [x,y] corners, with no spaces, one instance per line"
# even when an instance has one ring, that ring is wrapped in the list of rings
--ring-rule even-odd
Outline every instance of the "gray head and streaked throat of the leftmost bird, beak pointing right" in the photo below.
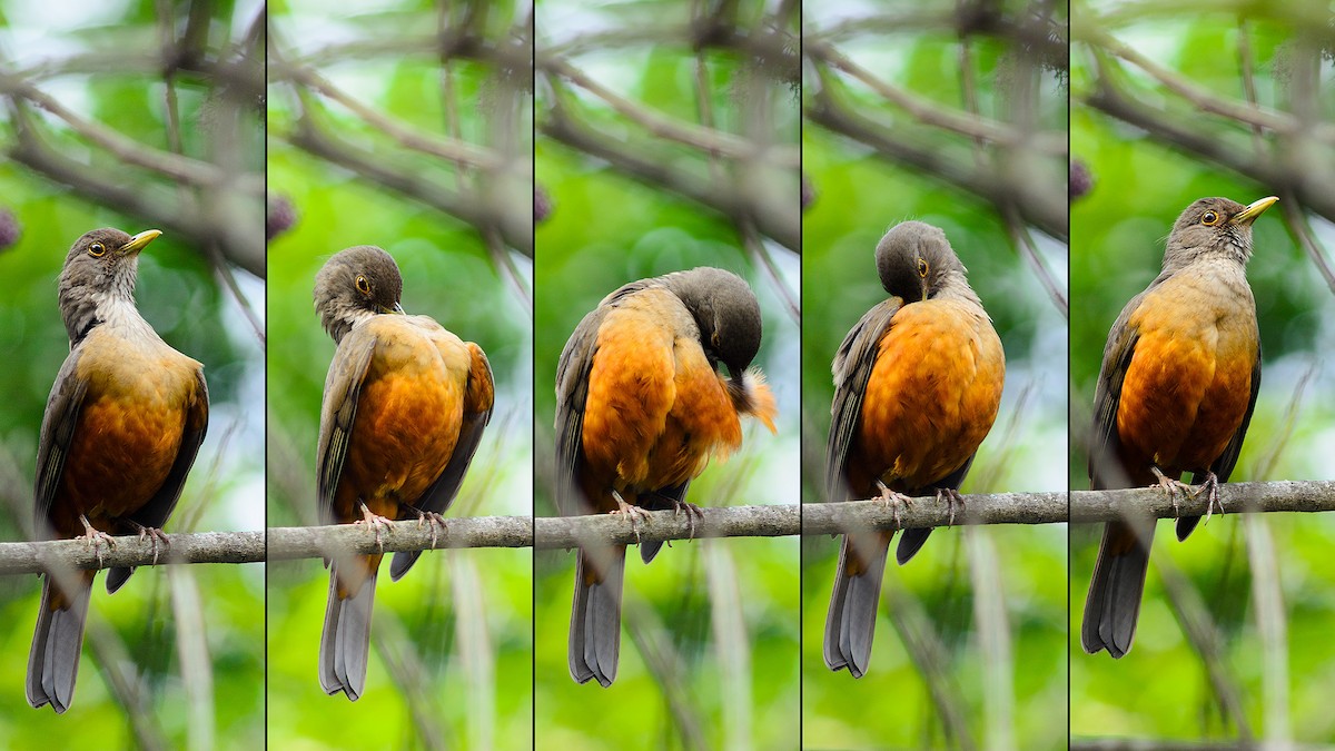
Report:
[[[129,237],[103,227],[75,241],[57,283],[60,318],[71,343],[107,321],[117,306],[134,310],[139,251],[159,235],[158,230],[146,230]]]

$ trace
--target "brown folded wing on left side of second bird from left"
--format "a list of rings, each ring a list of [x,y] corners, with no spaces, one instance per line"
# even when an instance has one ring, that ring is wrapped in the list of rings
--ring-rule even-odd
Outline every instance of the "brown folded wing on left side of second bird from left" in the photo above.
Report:
[[[320,408],[320,438],[316,448],[316,477],[322,524],[351,520],[334,518],[334,494],[343,478],[343,462],[351,442],[352,421],[362,382],[375,354],[375,335],[364,326],[354,326],[334,353],[324,378],[324,404]]]

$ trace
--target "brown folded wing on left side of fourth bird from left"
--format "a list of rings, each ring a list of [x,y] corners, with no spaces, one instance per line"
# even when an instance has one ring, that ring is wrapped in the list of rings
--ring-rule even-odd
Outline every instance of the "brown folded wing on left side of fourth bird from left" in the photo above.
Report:
[[[900,298],[890,298],[862,315],[861,321],[844,337],[834,354],[834,404],[830,406],[830,437],[825,454],[825,498],[849,498],[845,470],[848,452],[853,444],[866,382],[876,365],[881,337],[890,330],[890,322],[901,307]]]

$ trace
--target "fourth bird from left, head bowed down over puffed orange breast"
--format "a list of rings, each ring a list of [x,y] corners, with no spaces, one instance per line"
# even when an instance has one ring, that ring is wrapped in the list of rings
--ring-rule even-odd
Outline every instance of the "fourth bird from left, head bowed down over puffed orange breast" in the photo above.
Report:
[[[936,494],[951,516],[1005,382],[1001,339],[945,233],[924,222],[892,227],[876,246],[890,295],[844,338],[833,362],[825,462],[830,501],[906,504]],[[930,529],[905,529],[908,563]],[[825,665],[866,673],[893,531],[844,536],[825,619]]]

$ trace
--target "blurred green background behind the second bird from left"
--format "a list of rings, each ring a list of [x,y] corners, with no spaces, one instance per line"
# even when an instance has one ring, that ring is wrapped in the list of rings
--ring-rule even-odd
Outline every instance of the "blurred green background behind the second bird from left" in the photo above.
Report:
[[[311,299],[334,253],[378,245],[403,307],[487,353],[495,410],[446,513],[530,514],[531,8],[270,5],[268,521],[316,524],[315,445],[334,342]],[[523,748],[533,734],[527,549],[429,552],[378,581],[366,692],[326,696],[328,575],[268,579],[272,748]],[[331,722],[338,718],[338,722]]]

